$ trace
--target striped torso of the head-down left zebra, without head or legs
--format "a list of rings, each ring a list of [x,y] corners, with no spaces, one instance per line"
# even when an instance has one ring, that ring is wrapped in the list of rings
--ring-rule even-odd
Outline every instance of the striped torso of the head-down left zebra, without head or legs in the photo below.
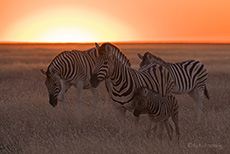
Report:
[[[96,58],[97,52],[95,48],[86,51],[63,51],[51,61],[47,72],[55,73],[67,82],[89,79]]]

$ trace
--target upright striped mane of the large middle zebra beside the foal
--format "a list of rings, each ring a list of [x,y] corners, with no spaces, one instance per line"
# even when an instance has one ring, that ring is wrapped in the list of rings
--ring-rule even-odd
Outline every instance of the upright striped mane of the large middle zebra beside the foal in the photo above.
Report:
[[[104,43],[98,50],[99,55],[112,54],[119,62],[124,65],[131,66],[129,59],[125,54],[115,45],[111,43]]]

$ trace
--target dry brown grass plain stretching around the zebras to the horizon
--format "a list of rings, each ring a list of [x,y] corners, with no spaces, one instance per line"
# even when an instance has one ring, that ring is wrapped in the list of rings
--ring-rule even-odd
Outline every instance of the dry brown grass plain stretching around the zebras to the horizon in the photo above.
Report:
[[[199,60],[208,70],[202,120],[195,118],[196,103],[189,95],[179,101],[180,145],[169,141],[166,130],[162,142],[154,131],[146,137],[147,116],[139,128],[126,113],[124,132],[119,132],[113,103],[106,98],[104,83],[99,86],[99,102],[93,110],[90,90],[83,92],[82,109],[76,104],[74,87],[65,95],[66,108],[49,104],[45,76],[51,60],[64,50],[86,50],[94,44],[14,44],[0,45],[0,153],[76,154],[229,154],[230,153],[230,44],[116,44],[139,68],[137,53],[149,51],[165,61]],[[157,132],[156,132],[157,133]]]

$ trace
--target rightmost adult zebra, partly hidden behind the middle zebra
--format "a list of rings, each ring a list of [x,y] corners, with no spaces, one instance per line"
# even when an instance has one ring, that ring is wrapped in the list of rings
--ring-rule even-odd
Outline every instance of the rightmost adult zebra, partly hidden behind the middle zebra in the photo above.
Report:
[[[209,99],[209,93],[206,88],[207,70],[204,65],[196,60],[189,60],[180,63],[165,62],[161,58],[146,52],[144,56],[138,54],[142,59],[140,68],[148,64],[159,64],[164,66],[170,72],[175,86],[173,93],[188,93],[197,102],[197,120],[200,121],[204,95]]]

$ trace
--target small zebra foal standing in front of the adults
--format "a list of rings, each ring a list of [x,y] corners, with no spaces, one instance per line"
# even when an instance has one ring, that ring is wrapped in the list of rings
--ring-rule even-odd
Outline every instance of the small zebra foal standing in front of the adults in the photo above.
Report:
[[[147,135],[150,134],[150,131],[155,127],[155,124],[160,122],[160,139],[162,138],[164,128],[163,123],[165,123],[169,139],[172,140],[173,129],[168,121],[169,118],[172,117],[179,142],[180,132],[178,126],[178,108],[178,101],[171,94],[167,94],[166,96],[162,97],[154,90],[150,90],[144,87],[137,89],[135,92],[133,112],[134,116],[148,113],[149,118],[152,121],[152,125],[150,125]]]

